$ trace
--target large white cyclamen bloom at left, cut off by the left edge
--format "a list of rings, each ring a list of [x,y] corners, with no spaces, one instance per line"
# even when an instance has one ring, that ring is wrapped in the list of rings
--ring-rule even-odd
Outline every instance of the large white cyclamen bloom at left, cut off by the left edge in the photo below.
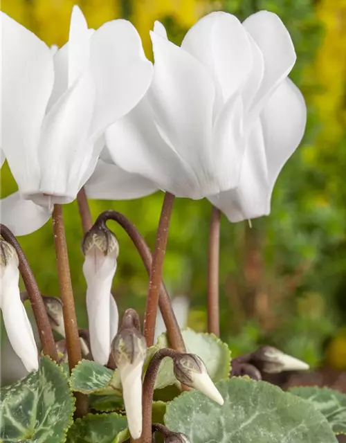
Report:
[[[1,141],[18,192],[0,201],[15,235],[37,230],[53,204],[73,201],[91,176],[104,129],[129,112],[152,80],[129,21],[88,29],[73,8],[57,52],[0,12]]]

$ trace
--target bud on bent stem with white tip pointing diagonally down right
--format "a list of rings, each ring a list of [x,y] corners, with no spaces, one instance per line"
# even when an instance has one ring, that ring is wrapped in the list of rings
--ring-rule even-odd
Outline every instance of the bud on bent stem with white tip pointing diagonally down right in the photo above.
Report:
[[[203,392],[207,397],[224,404],[224,399],[217,390],[203,361],[195,354],[178,354],[173,359],[174,375],[177,380],[190,388],[195,388]]]

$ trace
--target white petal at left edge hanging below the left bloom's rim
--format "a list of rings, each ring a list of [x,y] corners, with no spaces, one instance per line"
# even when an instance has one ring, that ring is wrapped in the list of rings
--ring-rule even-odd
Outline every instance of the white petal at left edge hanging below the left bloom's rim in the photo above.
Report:
[[[15,192],[0,200],[0,222],[15,235],[28,235],[46,224],[52,210],[24,200],[19,192]]]

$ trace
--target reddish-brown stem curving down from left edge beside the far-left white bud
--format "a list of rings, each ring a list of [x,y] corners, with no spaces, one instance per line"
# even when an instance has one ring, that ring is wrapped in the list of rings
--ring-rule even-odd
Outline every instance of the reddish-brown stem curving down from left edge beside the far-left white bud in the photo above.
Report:
[[[28,298],[33,307],[39,339],[42,345],[42,352],[45,355],[50,356],[54,361],[57,361],[57,350],[55,347],[53,332],[33,271],[31,271],[28,260],[26,259],[20,244],[17,242],[15,235],[12,234],[10,229],[3,224],[0,224],[0,235],[6,242],[10,243],[17,252],[19,258],[19,272],[21,273],[21,278],[24,281]]]

